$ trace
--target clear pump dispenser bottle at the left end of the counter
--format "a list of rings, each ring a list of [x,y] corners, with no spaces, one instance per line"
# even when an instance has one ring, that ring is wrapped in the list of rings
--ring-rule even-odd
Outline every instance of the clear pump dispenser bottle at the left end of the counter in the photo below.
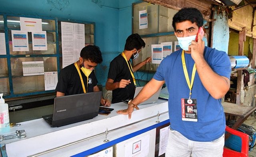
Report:
[[[0,94],[0,134],[10,131],[9,109],[5,103],[3,93]]]

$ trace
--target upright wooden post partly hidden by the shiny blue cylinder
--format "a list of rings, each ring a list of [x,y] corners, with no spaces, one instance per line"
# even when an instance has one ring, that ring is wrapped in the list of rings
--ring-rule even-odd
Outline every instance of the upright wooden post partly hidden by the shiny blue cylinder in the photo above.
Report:
[[[244,55],[244,41],[246,39],[245,35],[245,27],[242,28],[242,31],[239,32],[239,49],[238,49],[238,55],[242,56]],[[240,97],[241,97],[241,90],[242,88],[242,70],[237,71],[237,86],[236,86],[236,104],[242,104],[240,103]]]

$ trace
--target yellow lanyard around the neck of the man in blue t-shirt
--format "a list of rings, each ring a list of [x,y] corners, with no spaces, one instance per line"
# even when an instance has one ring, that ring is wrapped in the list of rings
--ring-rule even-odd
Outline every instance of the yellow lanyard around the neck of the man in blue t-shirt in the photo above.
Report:
[[[188,70],[187,70],[187,67],[186,67],[186,62],[185,62],[185,57],[184,57],[184,50],[182,51],[182,54],[181,54],[181,60],[182,60],[182,67],[183,67],[183,71],[184,71],[184,75],[185,75],[185,78],[186,78],[186,81],[187,81],[187,84],[188,84],[188,88],[190,89],[189,91],[189,99],[191,98],[191,94],[192,94],[192,86],[193,86],[193,83],[194,83],[194,78],[195,78],[195,74],[196,74],[196,64],[194,64],[194,67],[193,67],[193,71],[192,71],[192,76],[191,76],[191,83],[190,83],[190,80],[188,78]]]

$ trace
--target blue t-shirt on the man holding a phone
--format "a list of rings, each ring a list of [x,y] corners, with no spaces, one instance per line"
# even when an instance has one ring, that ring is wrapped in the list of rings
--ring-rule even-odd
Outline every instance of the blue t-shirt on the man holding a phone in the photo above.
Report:
[[[198,73],[194,78],[192,99],[197,101],[198,122],[182,121],[181,99],[189,97],[189,88],[184,76],[182,49],[167,56],[158,67],[154,79],[165,80],[169,92],[168,108],[170,124],[173,130],[179,131],[193,141],[213,141],[225,132],[226,120],[221,99],[214,99],[204,88]],[[228,55],[210,47],[204,48],[204,59],[212,70],[220,76],[230,79],[231,65]],[[186,67],[191,81],[194,60],[191,54],[185,53]]]

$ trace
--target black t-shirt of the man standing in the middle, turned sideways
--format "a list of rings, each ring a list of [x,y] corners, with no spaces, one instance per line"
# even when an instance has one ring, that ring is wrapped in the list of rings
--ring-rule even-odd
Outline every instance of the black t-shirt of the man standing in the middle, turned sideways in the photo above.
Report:
[[[130,66],[130,61],[128,61]],[[133,99],[135,93],[135,85],[130,73],[129,67],[122,55],[114,58],[109,66],[108,78],[114,82],[120,82],[122,79],[131,81],[125,88],[116,88],[112,91],[112,103],[121,102],[122,100]]]

